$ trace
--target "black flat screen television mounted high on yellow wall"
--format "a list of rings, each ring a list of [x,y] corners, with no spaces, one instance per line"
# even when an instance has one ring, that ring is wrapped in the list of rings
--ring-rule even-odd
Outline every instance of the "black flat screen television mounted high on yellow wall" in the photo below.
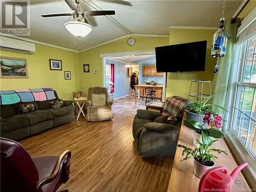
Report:
[[[157,72],[204,71],[206,42],[156,47]]]

